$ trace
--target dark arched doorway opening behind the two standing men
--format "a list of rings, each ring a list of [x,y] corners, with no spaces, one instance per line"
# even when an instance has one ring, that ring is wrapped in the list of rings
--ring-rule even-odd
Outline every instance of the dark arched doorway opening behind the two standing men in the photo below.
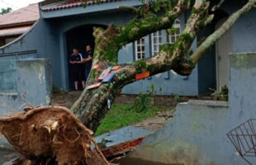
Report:
[[[68,61],[68,68],[69,68],[69,89],[73,89],[73,79],[71,75],[71,67],[69,64],[69,57],[73,54],[73,48],[77,48],[79,53],[85,54],[86,53],[86,46],[91,45],[92,50],[95,46],[95,38],[92,35],[93,29],[95,27],[102,27],[104,29],[107,26],[102,25],[85,25],[85,26],[78,26],[66,32],[66,39],[67,39],[67,61]],[[81,83],[79,82],[79,88],[81,88]]]

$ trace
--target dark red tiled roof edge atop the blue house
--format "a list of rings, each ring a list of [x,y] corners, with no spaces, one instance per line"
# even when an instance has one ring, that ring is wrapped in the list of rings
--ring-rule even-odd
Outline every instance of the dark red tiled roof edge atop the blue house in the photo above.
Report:
[[[102,3],[106,2],[115,2],[118,0],[101,0]],[[97,4],[95,1],[88,1],[87,5],[93,5]],[[50,11],[55,11],[55,10],[60,10],[60,9],[66,9],[66,8],[71,8],[71,7],[82,7],[83,2],[81,0],[66,0],[66,1],[61,1],[61,2],[55,2],[50,5],[46,5],[45,7],[41,7],[41,10],[44,12],[50,12]]]

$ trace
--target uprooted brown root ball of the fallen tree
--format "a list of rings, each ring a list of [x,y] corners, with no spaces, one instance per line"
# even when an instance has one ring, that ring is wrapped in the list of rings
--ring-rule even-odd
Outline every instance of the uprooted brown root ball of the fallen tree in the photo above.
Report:
[[[24,114],[2,117],[0,130],[32,164],[43,158],[54,158],[59,165],[109,164],[97,147],[92,130],[62,106],[31,108]]]

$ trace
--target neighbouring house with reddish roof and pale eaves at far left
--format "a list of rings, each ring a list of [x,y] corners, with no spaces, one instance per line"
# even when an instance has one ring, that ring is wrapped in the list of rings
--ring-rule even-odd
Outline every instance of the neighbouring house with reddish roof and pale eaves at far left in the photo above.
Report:
[[[38,3],[0,16],[0,47],[29,31],[39,17]]]

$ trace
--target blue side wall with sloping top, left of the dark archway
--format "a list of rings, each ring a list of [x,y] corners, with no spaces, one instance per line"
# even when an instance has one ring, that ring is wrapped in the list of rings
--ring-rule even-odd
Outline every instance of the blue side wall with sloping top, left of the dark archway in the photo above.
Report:
[[[59,37],[56,26],[40,19],[26,34],[0,48],[0,59],[50,59],[53,81],[61,88]],[[57,33],[58,34],[58,33]]]

